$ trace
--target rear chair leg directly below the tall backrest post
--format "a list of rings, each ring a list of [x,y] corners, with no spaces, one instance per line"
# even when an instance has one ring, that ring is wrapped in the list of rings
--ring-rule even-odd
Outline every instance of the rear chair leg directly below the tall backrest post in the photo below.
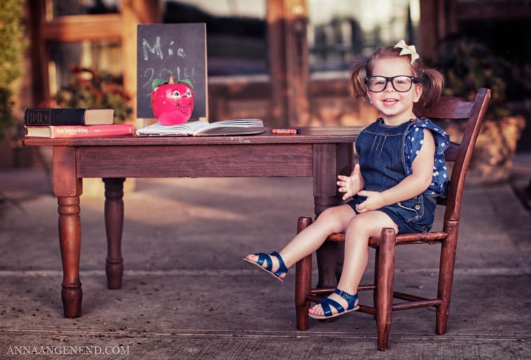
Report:
[[[453,268],[456,264],[457,226],[447,226],[449,236],[441,247],[441,262],[439,264],[439,288],[437,297],[442,300],[442,305],[437,306],[435,312],[435,333],[446,333],[448,315],[450,313],[450,299],[453,282]]]

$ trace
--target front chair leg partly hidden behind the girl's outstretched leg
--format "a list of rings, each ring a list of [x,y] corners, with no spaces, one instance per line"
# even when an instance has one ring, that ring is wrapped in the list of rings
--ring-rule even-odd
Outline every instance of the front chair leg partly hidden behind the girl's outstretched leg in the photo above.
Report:
[[[297,233],[303,231],[312,224],[310,217],[299,217],[297,222]],[[297,315],[297,329],[305,331],[308,329],[308,310],[310,301],[306,300],[306,295],[312,290],[312,254],[300,259],[295,268],[295,309]]]

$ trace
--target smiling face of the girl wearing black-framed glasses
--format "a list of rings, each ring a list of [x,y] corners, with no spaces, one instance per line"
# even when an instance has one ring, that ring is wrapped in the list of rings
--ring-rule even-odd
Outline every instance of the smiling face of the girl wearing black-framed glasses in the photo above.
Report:
[[[398,75],[414,76],[409,66],[409,57],[388,57],[379,59],[374,63],[372,76],[392,78]],[[367,88],[367,94],[370,103],[379,110],[384,122],[388,125],[398,125],[415,117],[413,103],[416,103],[421,98],[422,87],[420,84],[413,82],[409,91],[398,92],[391,84],[391,81],[387,81],[383,91],[371,92]]]

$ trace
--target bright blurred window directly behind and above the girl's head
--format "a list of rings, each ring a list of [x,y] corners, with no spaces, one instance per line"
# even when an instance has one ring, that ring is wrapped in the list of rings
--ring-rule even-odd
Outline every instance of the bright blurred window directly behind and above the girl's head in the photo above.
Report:
[[[312,71],[349,69],[377,47],[416,39],[419,0],[308,0]]]

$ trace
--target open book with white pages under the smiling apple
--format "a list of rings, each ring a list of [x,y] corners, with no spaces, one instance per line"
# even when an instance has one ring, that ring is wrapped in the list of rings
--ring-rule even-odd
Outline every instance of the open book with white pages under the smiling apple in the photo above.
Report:
[[[156,122],[136,131],[140,136],[224,136],[254,135],[265,132],[261,119],[223,120],[206,122],[193,120],[180,125],[167,126]]]

